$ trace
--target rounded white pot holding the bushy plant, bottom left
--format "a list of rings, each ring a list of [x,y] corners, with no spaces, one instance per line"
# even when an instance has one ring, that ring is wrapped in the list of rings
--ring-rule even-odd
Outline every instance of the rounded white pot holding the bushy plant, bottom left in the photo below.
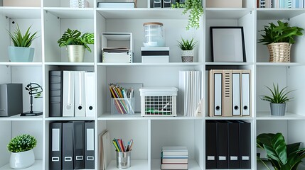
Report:
[[[9,159],[9,166],[12,169],[25,169],[35,162],[35,156],[33,149],[25,152],[11,152],[11,157]]]

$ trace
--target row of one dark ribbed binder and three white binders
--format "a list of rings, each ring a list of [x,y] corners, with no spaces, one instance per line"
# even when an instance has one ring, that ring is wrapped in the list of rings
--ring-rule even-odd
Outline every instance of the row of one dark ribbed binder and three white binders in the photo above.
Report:
[[[50,117],[94,117],[95,95],[94,72],[49,72]]]

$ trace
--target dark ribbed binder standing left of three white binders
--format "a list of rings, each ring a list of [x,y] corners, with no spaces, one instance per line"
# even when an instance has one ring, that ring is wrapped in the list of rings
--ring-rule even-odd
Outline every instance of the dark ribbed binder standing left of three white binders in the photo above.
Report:
[[[63,71],[49,71],[49,116],[63,116]]]

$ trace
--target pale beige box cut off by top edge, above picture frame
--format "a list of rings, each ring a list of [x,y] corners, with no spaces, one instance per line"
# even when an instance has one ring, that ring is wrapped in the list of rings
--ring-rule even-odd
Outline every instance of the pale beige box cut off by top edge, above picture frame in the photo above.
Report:
[[[242,8],[242,0],[207,0],[207,8]]]

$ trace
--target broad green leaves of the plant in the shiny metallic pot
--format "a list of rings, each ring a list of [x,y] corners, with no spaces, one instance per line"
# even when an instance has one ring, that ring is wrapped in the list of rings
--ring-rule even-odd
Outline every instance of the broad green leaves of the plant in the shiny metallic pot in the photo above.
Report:
[[[63,33],[62,37],[58,40],[59,47],[64,47],[66,45],[84,45],[85,48],[91,52],[88,44],[94,44],[94,34],[93,33],[82,33],[79,30],[68,30]]]

